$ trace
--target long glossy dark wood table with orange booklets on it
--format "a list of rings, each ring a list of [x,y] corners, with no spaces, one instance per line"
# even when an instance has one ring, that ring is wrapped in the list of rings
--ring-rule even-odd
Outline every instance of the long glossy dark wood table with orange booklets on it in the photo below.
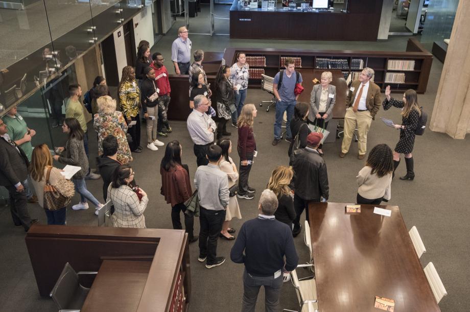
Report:
[[[391,217],[345,213],[345,203],[311,203],[310,231],[321,312],[380,311],[375,296],[395,311],[440,311],[397,206]]]

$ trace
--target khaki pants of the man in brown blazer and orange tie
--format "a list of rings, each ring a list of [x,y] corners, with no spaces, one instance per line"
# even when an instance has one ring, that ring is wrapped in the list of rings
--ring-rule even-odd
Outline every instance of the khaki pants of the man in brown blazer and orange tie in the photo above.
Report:
[[[343,143],[341,144],[341,152],[346,154],[349,151],[351,145],[351,139],[353,139],[354,130],[358,129],[359,135],[359,155],[364,155],[367,151],[367,132],[369,132],[370,123],[372,122],[372,116],[370,111],[358,111],[354,112],[352,107],[346,110],[344,116],[344,137]]]

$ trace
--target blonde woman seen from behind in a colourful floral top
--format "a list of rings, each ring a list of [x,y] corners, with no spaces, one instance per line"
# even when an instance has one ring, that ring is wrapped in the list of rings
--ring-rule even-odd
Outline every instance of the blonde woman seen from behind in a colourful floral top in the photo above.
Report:
[[[132,161],[132,154],[127,142],[127,125],[121,112],[116,111],[116,101],[108,97],[97,100],[98,113],[95,114],[93,127],[98,133],[98,155],[103,155],[102,142],[108,135],[117,138],[117,160],[122,164]]]

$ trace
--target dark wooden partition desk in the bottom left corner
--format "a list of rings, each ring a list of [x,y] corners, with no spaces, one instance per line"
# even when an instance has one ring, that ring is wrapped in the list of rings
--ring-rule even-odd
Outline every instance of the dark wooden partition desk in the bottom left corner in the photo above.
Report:
[[[105,311],[109,300],[121,304],[126,311],[170,311],[175,295],[182,290],[184,299],[179,310],[187,309],[191,270],[187,234],[183,230],[33,225],[26,235],[26,245],[41,296],[49,296],[69,262],[76,271],[99,272],[83,312]],[[109,284],[110,278],[116,278],[112,272],[140,274],[142,288],[126,296],[114,295],[130,287],[125,282],[100,288]],[[131,280],[135,282],[135,278]],[[107,296],[103,298],[103,294]]]

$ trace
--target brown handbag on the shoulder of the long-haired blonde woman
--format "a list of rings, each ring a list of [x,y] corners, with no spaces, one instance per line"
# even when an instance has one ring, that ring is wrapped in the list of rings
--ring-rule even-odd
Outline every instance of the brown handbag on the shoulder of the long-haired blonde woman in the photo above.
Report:
[[[74,197],[74,184],[68,180],[61,181],[58,184],[60,190],[57,189],[56,186],[52,185],[49,182],[49,177],[51,175],[52,167],[48,169],[48,173],[46,175],[46,181],[44,185],[44,201],[43,201],[43,208],[48,209],[51,211],[61,209],[72,201],[72,197]],[[72,191],[70,191],[70,188]],[[65,194],[65,195],[63,195]]]

